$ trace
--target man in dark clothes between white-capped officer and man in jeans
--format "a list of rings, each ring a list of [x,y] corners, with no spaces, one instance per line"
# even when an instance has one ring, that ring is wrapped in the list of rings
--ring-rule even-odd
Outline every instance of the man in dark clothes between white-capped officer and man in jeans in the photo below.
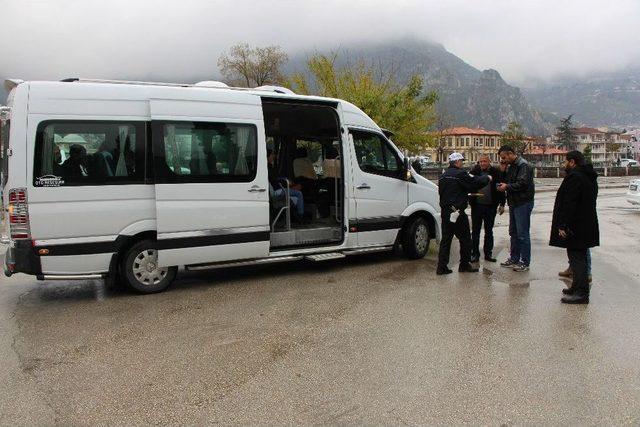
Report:
[[[486,154],[480,156],[478,164],[471,169],[471,175],[491,176],[492,183],[480,189],[477,195],[469,198],[471,206],[471,237],[473,248],[471,249],[471,262],[478,262],[480,259],[480,230],[484,223],[484,251],[485,261],[496,262],[493,257],[493,224],[496,214],[504,213],[505,195],[496,188],[495,184],[502,182],[502,171],[491,165],[491,159]]]

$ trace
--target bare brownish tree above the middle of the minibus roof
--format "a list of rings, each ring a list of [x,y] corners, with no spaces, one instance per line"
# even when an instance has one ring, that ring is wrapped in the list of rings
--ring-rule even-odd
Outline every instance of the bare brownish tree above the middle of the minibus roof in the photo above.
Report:
[[[226,82],[233,86],[255,87],[279,84],[280,69],[288,56],[279,46],[250,47],[237,44],[218,58],[218,67]]]

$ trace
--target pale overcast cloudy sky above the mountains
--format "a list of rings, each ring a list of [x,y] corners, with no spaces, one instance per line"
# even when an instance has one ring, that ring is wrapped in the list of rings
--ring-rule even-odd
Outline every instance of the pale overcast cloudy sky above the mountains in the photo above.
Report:
[[[510,83],[640,64],[640,0],[0,0],[0,78],[193,81],[238,42],[413,36]]]

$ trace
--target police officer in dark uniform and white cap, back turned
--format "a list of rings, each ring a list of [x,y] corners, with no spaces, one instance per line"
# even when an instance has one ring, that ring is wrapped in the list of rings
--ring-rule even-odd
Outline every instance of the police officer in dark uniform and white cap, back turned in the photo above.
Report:
[[[464,156],[452,153],[449,156],[449,167],[438,180],[440,193],[440,210],[442,215],[442,240],[438,254],[437,274],[449,274],[449,253],[451,241],[456,236],[460,241],[459,272],[474,273],[478,271],[471,263],[471,230],[465,209],[469,204],[469,193],[474,193],[489,184],[491,175],[473,176],[462,169]]]

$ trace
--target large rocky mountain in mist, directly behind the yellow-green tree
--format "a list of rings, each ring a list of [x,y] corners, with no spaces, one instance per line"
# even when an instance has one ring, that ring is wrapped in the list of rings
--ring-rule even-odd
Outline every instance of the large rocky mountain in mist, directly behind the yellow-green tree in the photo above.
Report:
[[[315,52],[291,55],[286,71],[303,70]],[[337,65],[363,60],[391,71],[400,82],[420,74],[424,90],[438,92],[436,105],[447,127],[465,125],[502,130],[515,120],[533,135],[549,133],[553,126],[533,109],[520,89],[507,84],[496,70],[480,71],[437,43],[403,39],[342,46]]]

